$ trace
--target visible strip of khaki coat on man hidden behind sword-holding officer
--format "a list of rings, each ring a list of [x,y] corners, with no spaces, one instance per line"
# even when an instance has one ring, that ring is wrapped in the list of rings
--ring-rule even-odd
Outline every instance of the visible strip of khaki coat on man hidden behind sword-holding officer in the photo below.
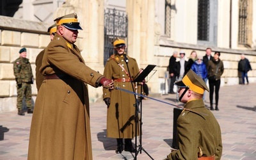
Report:
[[[44,56],[44,51],[41,51],[37,56],[36,56],[36,88],[37,88],[37,92],[41,86],[41,84],[44,81],[44,75],[42,75],[39,71],[40,67],[42,66],[42,60],[43,60],[43,56]]]

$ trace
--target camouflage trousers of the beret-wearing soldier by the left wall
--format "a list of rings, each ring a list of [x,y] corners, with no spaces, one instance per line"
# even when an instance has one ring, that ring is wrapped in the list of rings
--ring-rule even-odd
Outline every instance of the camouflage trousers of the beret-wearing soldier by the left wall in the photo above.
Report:
[[[26,99],[26,105],[28,109],[32,108],[32,102],[31,102],[31,84],[30,83],[22,83],[21,86],[17,85],[17,109],[22,109],[22,100],[25,96]]]

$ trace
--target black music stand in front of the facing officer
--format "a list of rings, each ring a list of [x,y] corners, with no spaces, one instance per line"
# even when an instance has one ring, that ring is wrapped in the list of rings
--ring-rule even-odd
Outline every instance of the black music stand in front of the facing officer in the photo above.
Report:
[[[135,79],[132,81],[134,83],[145,83],[147,81],[145,81],[145,78],[148,76],[148,74],[156,67],[156,65],[148,65],[141,73],[139,73]],[[156,72],[156,71],[155,71]],[[154,72],[154,73],[155,73]],[[141,84],[140,84],[141,85]],[[141,86],[141,93],[142,93],[142,86]],[[139,140],[140,140],[140,144],[138,145],[138,151],[137,151],[137,129],[138,129],[138,123],[139,123],[139,118],[138,118],[138,113],[140,112],[140,136],[139,136]],[[135,157],[134,159],[137,159],[138,153],[140,152],[141,154],[141,150],[143,150],[151,159],[153,159],[148,152],[142,147],[142,97],[140,97],[140,110],[138,110],[138,108],[135,109],[135,149],[136,149],[136,153],[135,153]]]

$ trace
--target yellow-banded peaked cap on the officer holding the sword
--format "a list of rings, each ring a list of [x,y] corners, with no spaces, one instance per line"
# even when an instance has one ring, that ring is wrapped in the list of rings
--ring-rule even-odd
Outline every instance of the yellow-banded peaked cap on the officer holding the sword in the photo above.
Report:
[[[72,30],[77,30],[77,29],[83,30],[79,25],[80,23],[77,20],[76,13],[71,13],[68,15],[64,15],[62,17],[58,17],[54,21],[56,21],[57,26],[65,26],[65,28],[72,29]]]

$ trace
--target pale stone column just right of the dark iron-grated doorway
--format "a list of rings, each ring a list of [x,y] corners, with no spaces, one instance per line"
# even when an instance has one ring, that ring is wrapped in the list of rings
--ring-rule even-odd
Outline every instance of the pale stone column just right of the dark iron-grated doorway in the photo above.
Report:
[[[126,1],[128,15],[128,54],[136,58],[139,68],[155,65],[154,33],[155,33],[155,1],[129,0]],[[152,75],[152,73],[150,73]],[[148,82],[150,92],[157,93],[159,84],[158,73]]]

